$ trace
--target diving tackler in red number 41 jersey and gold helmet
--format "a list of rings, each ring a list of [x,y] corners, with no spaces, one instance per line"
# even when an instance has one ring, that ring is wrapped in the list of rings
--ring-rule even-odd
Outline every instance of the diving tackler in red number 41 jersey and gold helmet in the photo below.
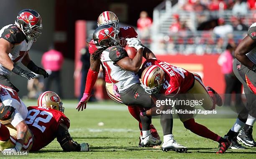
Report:
[[[170,65],[167,62],[150,59],[146,60],[142,65],[141,84],[146,92],[151,94],[163,94],[164,99],[170,97],[171,99],[180,98],[177,94],[182,94],[185,99],[196,99],[197,97],[186,94],[200,94],[199,98],[204,99],[202,107],[206,110],[215,108],[215,104],[222,105],[221,97],[211,88],[204,86],[202,79],[197,74],[192,74],[187,70]],[[161,99],[161,97],[160,97]],[[164,107],[166,107],[164,105]],[[176,109],[194,110],[190,106],[177,106]],[[160,107],[154,107],[142,115],[152,115]],[[155,113],[156,114],[156,113]],[[159,115],[159,114],[156,114]],[[228,139],[220,137],[218,134],[207,129],[207,127],[198,124],[193,118],[193,114],[179,114],[180,120],[183,122],[184,127],[191,132],[208,139],[212,139],[220,144],[220,150],[217,153],[224,153],[230,146]],[[168,137],[166,135],[166,137]],[[169,135],[169,140],[173,140],[172,134]],[[167,140],[168,141],[168,140]],[[168,142],[164,142],[162,149],[166,149]]]

